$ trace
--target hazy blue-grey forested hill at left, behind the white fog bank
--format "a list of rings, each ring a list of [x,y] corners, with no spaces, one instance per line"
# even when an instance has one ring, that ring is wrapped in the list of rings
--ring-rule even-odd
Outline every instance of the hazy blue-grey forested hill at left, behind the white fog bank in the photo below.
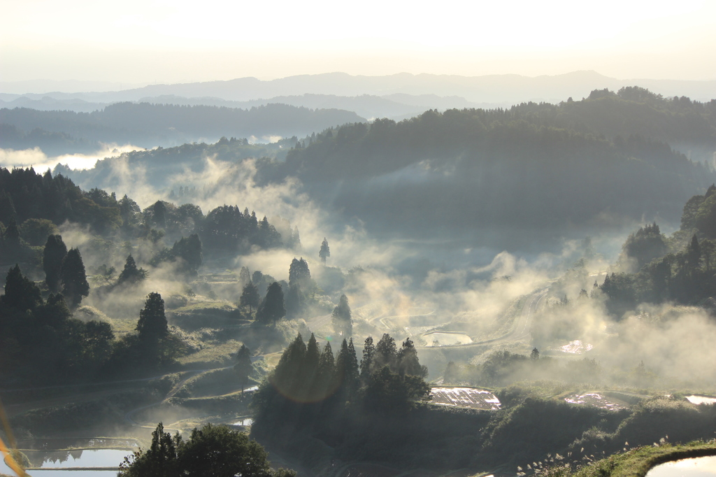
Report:
[[[24,107],[1,109],[0,125],[4,126],[0,131],[4,148],[24,149],[40,145],[29,134],[36,129],[63,133],[74,140],[131,143],[150,148],[191,143],[202,138],[213,141],[221,136],[306,135],[362,120],[349,111],[309,110],[279,104],[242,110],[122,102],[95,112],[38,111]],[[69,147],[67,138],[62,140],[65,147]]]

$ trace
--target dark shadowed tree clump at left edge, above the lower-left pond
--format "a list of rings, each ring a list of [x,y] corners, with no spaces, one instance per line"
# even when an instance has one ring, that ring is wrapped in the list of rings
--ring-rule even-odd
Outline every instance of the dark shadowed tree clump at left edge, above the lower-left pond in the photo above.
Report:
[[[72,261],[73,251],[67,252],[64,269],[78,266]],[[73,276],[84,274],[81,266],[72,270]],[[77,293],[76,284],[62,283],[69,297]],[[168,369],[185,352],[181,340],[169,331],[158,293],[147,296],[135,331],[115,339],[108,322],[73,318],[68,307],[74,305],[72,298],[50,292],[43,299],[37,284],[19,266],[9,269],[4,291],[0,296],[0,376],[4,379],[91,381],[128,370],[153,372]]]

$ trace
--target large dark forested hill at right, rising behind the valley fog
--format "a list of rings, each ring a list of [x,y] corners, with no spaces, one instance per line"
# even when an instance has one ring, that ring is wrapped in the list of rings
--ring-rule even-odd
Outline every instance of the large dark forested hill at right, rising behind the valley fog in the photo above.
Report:
[[[716,175],[659,140],[716,150],[715,111],[713,101],[638,88],[560,105],[428,111],[325,131],[264,177],[296,175],[322,203],[387,231],[559,228],[597,216],[677,222]]]

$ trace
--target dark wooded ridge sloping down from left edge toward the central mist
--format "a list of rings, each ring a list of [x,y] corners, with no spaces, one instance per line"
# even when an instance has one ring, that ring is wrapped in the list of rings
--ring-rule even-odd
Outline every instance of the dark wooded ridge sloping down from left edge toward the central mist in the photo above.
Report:
[[[57,233],[63,223],[88,226],[89,231],[116,241],[145,238],[153,242],[167,238],[179,241],[200,236],[213,251],[246,253],[251,246],[270,249],[292,246],[298,231],[286,237],[255,212],[238,206],[221,206],[206,215],[198,206],[181,206],[157,201],[143,211],[126,195],[117,199],[99,188],[82,191],[62,174],[53,177],[47,170],[0,168],[0,263],[39,260],[33,247],[44,245],[47,236]],[[155,261],[171,257],[172,251],[158,254]],[[196,268],[196,267],[195,267]]]

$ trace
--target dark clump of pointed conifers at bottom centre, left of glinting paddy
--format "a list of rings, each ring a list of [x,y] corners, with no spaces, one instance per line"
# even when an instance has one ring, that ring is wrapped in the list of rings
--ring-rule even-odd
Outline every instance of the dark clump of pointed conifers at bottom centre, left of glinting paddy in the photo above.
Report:
[[[407,413],[429,397],[427,368],[420,365],[415,345],[383,334],[364,342],[357,359],[352,339],[343,339],[337,355],[330,342],[322,349],[314,334],[301,334],[286,347],[276,368],[253,397],[258,435],[304,430],[307,433],[352,432],[341,423],[362,415]]]

